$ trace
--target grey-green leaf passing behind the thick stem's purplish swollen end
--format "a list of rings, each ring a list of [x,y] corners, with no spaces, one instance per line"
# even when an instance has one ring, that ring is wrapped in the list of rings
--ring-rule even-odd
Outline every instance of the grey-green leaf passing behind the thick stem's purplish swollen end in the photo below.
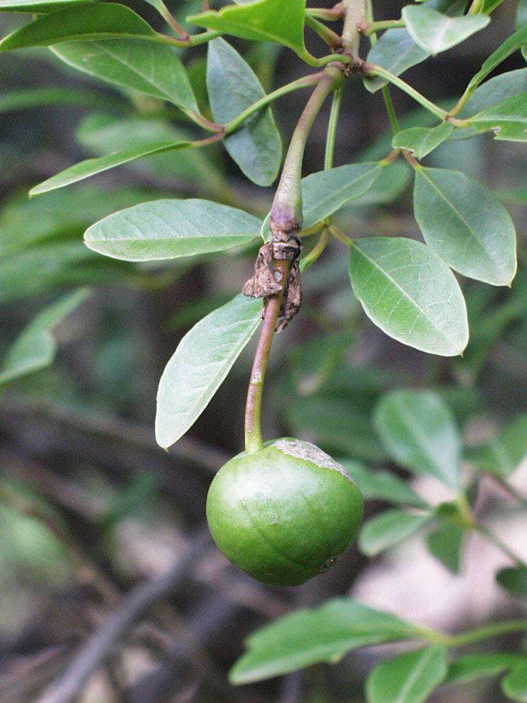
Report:
[[[389,168],[382,162],[372,161],[337,166],[306,176],[301,180],[302,226],[311,227],[337,212],[346,202],[361,198],[384,169]],[[269,216],[263,221],[261,235],[264,240],[271,236]]]

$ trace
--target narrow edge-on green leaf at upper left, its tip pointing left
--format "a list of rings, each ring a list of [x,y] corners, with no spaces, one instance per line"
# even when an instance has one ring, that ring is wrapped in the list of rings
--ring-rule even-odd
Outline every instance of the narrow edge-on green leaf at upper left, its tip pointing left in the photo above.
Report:
[[[70,166],[55,176],[51,176],[51,178],[48,178],[46,181],[42,181],[38,186],[34,186],[34,188],[30,190],[30,195],[48,193],[48,191],[54,191],[56,188],[69,186],[71,183],[77,183],[77,181],[82,181],[82,179],[89,178],[89,176],[95,176],[103,171],[108,171],[108,169],[121,166],[135,159],[140,159],[143,156],[151,156],[152,154],[181,149],[189,145],[190,142],[188,141],[138,144],[135,147],[106,154],[96,159],[86,159],[78,164]]]

